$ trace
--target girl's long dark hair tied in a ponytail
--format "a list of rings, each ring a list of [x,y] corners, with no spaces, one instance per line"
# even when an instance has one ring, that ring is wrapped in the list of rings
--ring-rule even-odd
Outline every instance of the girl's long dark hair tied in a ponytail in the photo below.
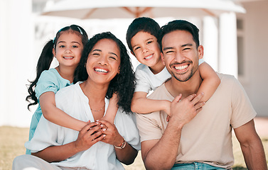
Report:
[[[29,95],[26,97],[26,101],[29,102],[28,104],[28,110],[30,106],[32,105],[36,105],[38,103],[38,98],[36,97],[36,92],[35,92],[35,88],[36,88],[36,84],[38,82],[38,79],[41,76],[41,73],[44,70],[48,70],[50,68],[50,64],[53,60],[53,48],[55,48],[55,45],[58,42],[58,38],[60,38],[60,35],[64,32],[64,31],[72,31],[73,33],[77,34],[80,36],[80,38],[82,38],[82,44],[85,46],[85,44],[88,41],[87,38],[87,33],[85,32],[85,30],[77,25],[71,25],[71,26],[66,26],[65,28],[62,28],[58,31],[58,33],[55,36],[54,40],[49,40],[46,44],[45,47],[43,47],[43,50],[41,52],[41,55],[38,59],[37,62],[37,66],[36,66],[36,79],[34,79],[33,81],[29,81],[30,84],[28,84],[28,93]],[[31,102],[33,101],[33,102]]]

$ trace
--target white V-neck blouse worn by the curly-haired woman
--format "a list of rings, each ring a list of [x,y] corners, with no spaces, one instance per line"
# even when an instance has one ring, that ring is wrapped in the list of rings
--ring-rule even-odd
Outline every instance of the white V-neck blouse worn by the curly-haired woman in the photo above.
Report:
[[[94,122],[93,115],[88,104],[88,98],[80,88],[81,82],[65,87],[55,95],[58,108],[65,113],[87,122]],[[105,98],[105,111],[109,100]],[[105,112],[106,113],[106,112]],[[136,128],[135,116],[132,113],[126,114],[121,108],[118,109],[114,119],[114,125],[122,137],[135,149],[140,149],[139,131]],[[43,115],[33,135],[33,139],[26,142],[25,147],[31,152],[38,152],[49,146],[65,145],[77,139],[78,131],[63,128],[46,120]],[[53,154],[53,153],[51,153]],[[104,142],[97,142],[83,152],[78,152],[62,162],[52,163],[57,166],[86,167],[87,169],[124,169],[116,159],[114,147]]]

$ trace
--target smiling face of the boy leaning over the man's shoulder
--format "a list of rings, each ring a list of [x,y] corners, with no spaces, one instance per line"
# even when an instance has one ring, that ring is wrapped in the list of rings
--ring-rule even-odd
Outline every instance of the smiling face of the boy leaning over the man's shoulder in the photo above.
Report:
[[[134,35],[131,44],[133,50],[132,55],[141,64],[154,67],[161,60],[159,44],[154,35],[140,31]]]

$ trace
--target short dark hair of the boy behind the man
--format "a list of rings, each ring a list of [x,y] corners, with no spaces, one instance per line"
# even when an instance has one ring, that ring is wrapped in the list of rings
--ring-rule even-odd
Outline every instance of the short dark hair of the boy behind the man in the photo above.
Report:
[[[154,19],[148,18],[148,17],[140,17],[134,19],[132,23],[129,25],[129,28],[127,29],[127,45],[129,46],[129,50],[133,52],[132,49],[132,38],[136,35],[136,33],[139,33],[140,31],[143,31],[145,33],[150,33],[151,35],[154,35],[156,38],[158,37],[160,30],[160,26]]]

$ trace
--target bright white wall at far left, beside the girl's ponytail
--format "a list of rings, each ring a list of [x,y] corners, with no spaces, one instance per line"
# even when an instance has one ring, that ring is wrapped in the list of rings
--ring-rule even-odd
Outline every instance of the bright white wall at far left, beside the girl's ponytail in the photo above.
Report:
[[[25,101],[28,66],[33,65],[31,0],[0,3],[0,125],[21,126],[31,117]]]

